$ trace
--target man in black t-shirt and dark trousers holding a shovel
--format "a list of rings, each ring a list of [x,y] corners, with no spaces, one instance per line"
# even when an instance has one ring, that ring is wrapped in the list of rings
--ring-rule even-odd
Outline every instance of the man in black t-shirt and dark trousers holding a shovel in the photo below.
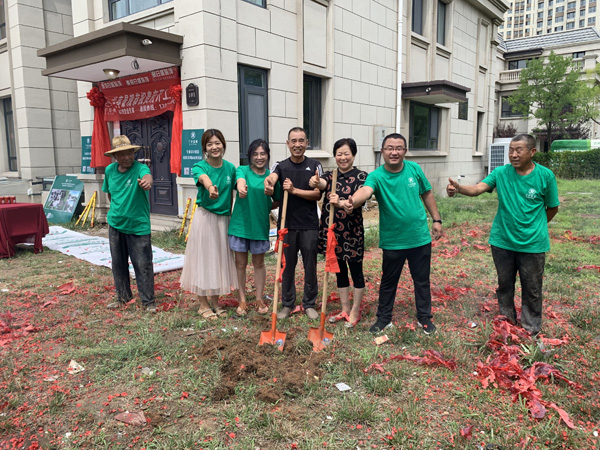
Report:
[[[300,127],[292,128],[286,141],[290,157],[275,164],[271,174],[265,179],[265,194],[272,195],[273,187],[278,180],[281,184],[281,195],[288,191],[288,205],[285,227],[288,234],[284,242],[289,247],[284,248],[286,266],[281,283],[281,302],[283,308],[277,314],[279,319],[290,315],[296,303],[296,264],[298,251],[302,255],[304,265],[304,296],[302,306],[306,316],[315,320],[319,314],[315,310],[317,293],[317,242],[319,237],[319,218],[317,215],[317,201],[321,198],[318,188],[312,189],[308,182],[315,172],[323,174],[321,163],[304,156],[308,147],[306,132]],[[279,223],[281,225],[281,208],[279,210]],[[275,299],[277,301],[277,299]]]

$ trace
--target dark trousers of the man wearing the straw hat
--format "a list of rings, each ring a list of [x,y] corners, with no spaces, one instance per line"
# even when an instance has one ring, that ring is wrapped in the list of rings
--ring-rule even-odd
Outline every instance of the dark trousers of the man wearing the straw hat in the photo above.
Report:
[[[154,303],[154,267],[152,266],[152,244],[150,235],[137,236],[121,233],[108,227],[108,241],[112,259],[113,278],[119,301],[128,302],[133,298],[129,280],[129,262],[131,259],[135,278],[143,306]]]

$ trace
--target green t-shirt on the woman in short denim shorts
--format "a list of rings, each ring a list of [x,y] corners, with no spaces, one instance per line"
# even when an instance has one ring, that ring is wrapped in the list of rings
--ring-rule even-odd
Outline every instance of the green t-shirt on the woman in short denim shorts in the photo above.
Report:
[[[246,180],[248,195],[240,198],[238,192],[229,222],[229,234],[255,241],[269,239],[269,213],[273,200],[279,200],[279,189],[275,187],[273,200],[265,195],[265,178],[269,175],[265,170],[264,175],[257,175],[250,166],[240,166],[235,171],[235,181],[240,178]]]

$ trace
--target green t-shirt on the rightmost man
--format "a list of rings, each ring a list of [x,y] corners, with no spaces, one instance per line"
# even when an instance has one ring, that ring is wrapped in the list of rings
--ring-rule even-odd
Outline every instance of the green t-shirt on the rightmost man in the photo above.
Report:
[[[498,191],[498,212],[490,231],[490,245],[513,252],[550,250],[546,208],[560,204],[552,171],[536,164],[530,174],[519,175],[507,164],[494,169],[483,183]]]

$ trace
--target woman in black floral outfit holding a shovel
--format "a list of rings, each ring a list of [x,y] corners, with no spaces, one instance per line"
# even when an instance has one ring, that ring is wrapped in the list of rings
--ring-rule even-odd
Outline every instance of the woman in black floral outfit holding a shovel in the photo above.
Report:
[[[347,214],[340,205],[340,200],[351,197],[365,182],[367,172],[354,167],[354,157],[357,147],[354,139],[338,140],[333,146],[333,155],[338,166],[338,176],[335,194],[331,194],[333,172],[326,172],[322,178],[315,175],[310,180],[311,187],[325,190],[321,226],[319,229],[319,253],[325,253],[327,247],[327,228],[330,206],[335,207],[334,232],[338,245],[335,253],[340,266],[337,276],[337,286],[342,302],[342,312],[329,318],[330,322],[346,320],[345,326],[354,327],[360,320],[360,302],[365,291],[362,260],[365,250],[362,208]],[[348,269],[354,283],[354,303],[350,306],[350,279]]]

